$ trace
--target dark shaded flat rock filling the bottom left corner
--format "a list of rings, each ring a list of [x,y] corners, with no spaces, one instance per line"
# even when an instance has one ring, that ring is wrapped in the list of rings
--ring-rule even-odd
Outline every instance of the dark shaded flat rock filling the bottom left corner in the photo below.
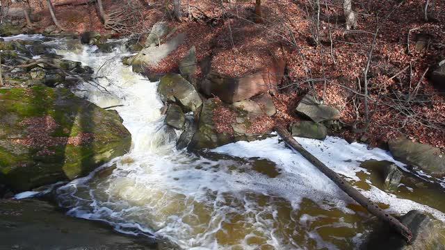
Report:
[[[0,249],[162,249],[172,244],[113,231],[101,222],[65,215],[36,199],[0,200]],[[26,235],[26,239],[24,239]],[[168,248],[166,248],[168,249]],[[175,247],[171,249],[177,249]]]

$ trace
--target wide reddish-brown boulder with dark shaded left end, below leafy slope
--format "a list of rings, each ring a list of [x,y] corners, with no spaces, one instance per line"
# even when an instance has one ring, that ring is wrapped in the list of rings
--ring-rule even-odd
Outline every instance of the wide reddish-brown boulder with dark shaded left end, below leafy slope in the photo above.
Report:
[[[231,77],[211,70],[200,88],[207,96],[216,96],[225,103],[234,103],[266,92],[277,92],[284,76],[284,60],[271,62],[261,71],[243,77]]]

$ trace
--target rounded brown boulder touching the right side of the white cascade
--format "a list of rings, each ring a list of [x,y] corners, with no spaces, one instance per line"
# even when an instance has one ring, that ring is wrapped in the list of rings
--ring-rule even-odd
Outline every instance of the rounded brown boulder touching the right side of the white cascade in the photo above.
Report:
[[[202,105],[200,95],[193,85],[179,74],[167,74],[161,78],[158,92],[163,101],[177,102],[186,111],[195,111]]]

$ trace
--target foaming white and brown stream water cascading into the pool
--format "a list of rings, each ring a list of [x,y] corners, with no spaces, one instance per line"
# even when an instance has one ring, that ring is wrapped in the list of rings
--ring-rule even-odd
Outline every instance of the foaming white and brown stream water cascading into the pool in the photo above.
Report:
[[[228,144],[205,157],[177,151],[179,131],[163,124],[157,83],[122,65],[123,48],[73,52],[63,40],[48,43],[102,76],[107,92],[86,83],[73,91],[101,107],[122,105],[114,109],[133,140],[126,155],[58,188],[68,215],[101,220],[122,233],[168,238],[184,249],[354,249],[375,226],[371,215],[277,137]],[[403,183],[396,192],[382,191],[378,171],[362,163],[390,160],[404,168],[387,151],[333,137],[297,139],[366,197],[382,208],[390,204],[389,212],[417,209],[445,221],[440,188]]]

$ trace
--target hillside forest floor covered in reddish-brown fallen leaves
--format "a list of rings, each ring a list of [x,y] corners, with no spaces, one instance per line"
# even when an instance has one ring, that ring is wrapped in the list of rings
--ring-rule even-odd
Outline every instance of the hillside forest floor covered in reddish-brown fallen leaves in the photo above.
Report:
[[[52,24],[51,17],[42,1],[34,2],[40,14],[36,24],[43,30]],[[179,59],[193,45],[197,60],[211,56],[212,67],[230,76],[245,76],[273,58],[284,58],[287,69],[275,96],[275,122],[298,119],[295,107],[310,93],[341,111],[343,129],[335,134],[344,138],[362,138],[375,146],[402,133],[445,150],[444,83],[440,90],[428,79],[434,65],[445,59],[445,1],[430,1],[428,22],[425,1],[353,1],[353,31],[344,28],[341,0],[321,1],[319,12],[315,1],[264,0],[262,24],[254,22],[254,1],[183,0],[183,22],[174,20],[172,1],[130,2],[104,0],[106,12],[124,10],[133,17],[127,32],[142,35],[165,20],[186,33],[186,43],[153,70],[177,71]],[[111,32],[93,5],[56,6],[56,16],[67,31]]]

